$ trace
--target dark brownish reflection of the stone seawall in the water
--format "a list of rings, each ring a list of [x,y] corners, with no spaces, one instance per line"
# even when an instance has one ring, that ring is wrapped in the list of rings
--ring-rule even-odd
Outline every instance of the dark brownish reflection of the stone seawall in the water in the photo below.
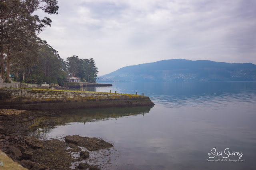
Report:
[[[49,115],[35,119],[30,126],[32,135],[40,137],[41,133],[47,133],[58,125],[65,125],[72,122],[94,122],[104,121],[110,118],[126,117],[132,115],[142,115],[149,113],[152,106],[136,107],[110,107],[92,109],[63,109],[50,111]]]

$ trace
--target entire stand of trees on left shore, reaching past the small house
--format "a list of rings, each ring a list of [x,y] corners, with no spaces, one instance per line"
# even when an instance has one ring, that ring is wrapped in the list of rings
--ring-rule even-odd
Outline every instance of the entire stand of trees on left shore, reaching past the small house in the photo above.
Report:
[[[59,83],[63,85],[67,73],[94,83],[97,67],[94,59],[60,58],[58,51],[38,38],[52,20],[37,15],[35,10],[58,14],[57,0],[0,0],[0,76],[10,82]]]

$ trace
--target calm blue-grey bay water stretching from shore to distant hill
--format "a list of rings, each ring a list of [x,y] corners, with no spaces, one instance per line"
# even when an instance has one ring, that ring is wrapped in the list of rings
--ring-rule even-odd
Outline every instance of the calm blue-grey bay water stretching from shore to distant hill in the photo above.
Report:
[[[38,119],[33,135],[103,138],[114,148],[91,152],[88,160],[103,169],[256,169],[256,83],[113,83],[87,90],[137,91],[156,105],[65,110]],[[226,148],[242,152],[240,160],[245,162],[209,162],[225,160],[209,158],[212,148],[223,157]]]

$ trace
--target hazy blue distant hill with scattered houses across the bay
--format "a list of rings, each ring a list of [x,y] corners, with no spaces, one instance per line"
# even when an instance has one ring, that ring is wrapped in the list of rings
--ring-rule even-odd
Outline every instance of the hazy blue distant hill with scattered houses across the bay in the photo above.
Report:
[[[256,81],[256,65],[169,59],[122,67],[99,81]]]

